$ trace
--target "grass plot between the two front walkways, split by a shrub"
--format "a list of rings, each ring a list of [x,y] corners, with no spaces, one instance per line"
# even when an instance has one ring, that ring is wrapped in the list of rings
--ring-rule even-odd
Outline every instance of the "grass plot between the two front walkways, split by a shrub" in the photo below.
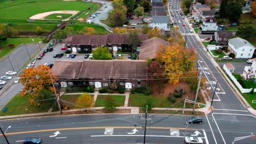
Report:
[[[108,95],[98,95],[94,107],[104,106],[104,101]],[[119,106],[124,106],[125,95],[113,95]]]

